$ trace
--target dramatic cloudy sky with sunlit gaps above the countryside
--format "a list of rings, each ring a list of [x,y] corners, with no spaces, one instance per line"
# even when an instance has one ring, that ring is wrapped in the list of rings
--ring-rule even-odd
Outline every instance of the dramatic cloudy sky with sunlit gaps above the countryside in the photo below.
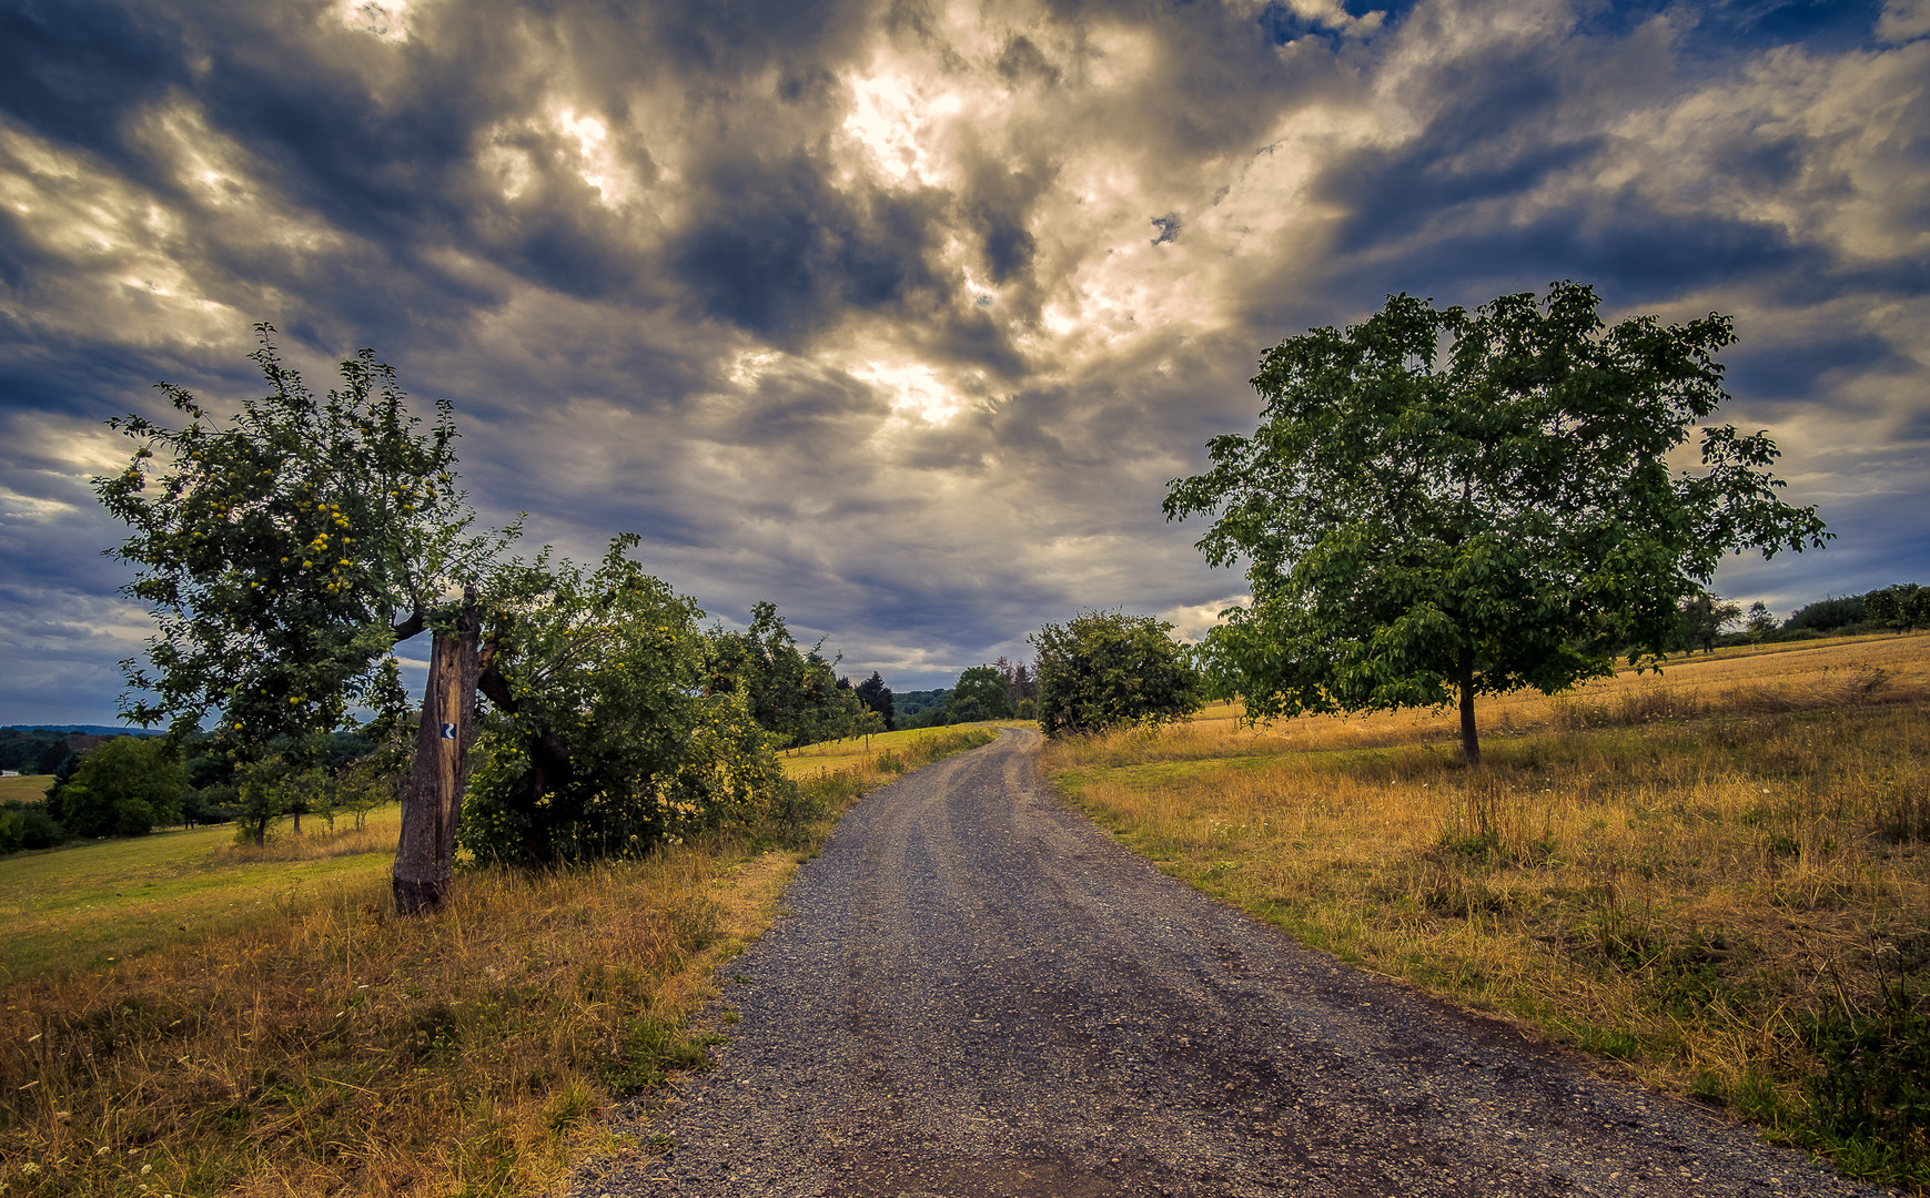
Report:
[[[1239,594],[1170,478],[1392,291],[1737,318],[1723,417],[1930,583],[1930,2],[0,0],[0,722],[110,722],[104,421],[270,320],[455,403],[484,519],[897,689]]]

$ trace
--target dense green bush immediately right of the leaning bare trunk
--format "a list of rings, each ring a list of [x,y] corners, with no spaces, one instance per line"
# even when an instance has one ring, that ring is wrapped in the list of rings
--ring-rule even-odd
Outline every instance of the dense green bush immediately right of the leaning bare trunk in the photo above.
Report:
[[[629,857],[762,812],[780,772],[745,694],[706,694],[703,612],[631,561],[525,567],[461,843],[482,862]],[[855,706],[855,700],[853,700]]]

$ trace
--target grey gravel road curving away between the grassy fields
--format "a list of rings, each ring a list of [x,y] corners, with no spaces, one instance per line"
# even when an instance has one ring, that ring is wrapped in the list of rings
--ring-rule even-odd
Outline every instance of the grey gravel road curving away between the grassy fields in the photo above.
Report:
[[[867,797],[716,1071],[579,1198],[1888,1194],[1303,949],[1060,804],[1038,735]]]

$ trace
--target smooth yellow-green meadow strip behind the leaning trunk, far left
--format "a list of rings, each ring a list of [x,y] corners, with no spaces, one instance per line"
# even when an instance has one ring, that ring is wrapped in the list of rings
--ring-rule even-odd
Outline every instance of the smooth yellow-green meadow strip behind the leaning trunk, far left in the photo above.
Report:
[[[262,860],[232,849],[234,824],[220,824],[0,857],[0,924],[8,930],[0,982],[96,968],[380,880],[394,860],[400,808],[372,812],[369,826],[386,831],[390,847]],[[318,820],[307,831],[311,843],[326,841]]]

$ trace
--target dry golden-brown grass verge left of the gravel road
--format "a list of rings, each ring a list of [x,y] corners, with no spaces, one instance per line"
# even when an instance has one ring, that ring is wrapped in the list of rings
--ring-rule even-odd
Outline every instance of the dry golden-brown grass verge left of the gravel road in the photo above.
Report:
[[[992,735],[890,733],[870,752],[799,754],[786,762],[795,793],[755,828],[641,860],[469,868],[428,918],[388,914],[382,855],[372,866],[342,857],[330,878],[264,891],[201,936],[152,922],[102,941],[112,951],[15,963],[0,1024],[0,1186],[521,1196],[575,1156],[647,1152],[600,1115],[703,1061],[706,1034],[685,1021],[710,997],[712,968],[768,926],[795,864],[868,789]],[[108,855],[166,843],[8,858],[0,893],[31,868],[52,903],[64,858],[77,887],[120,885],[129,874]],[[326,855],[326,837],[315,843]],[[288,841],[278,853],[307,864]],[[224,868],[243,891],[272,889],[249,872],[262,866],[199,843],[135,874],[203,893],[191,882]],[[52,907],[14,903],[77,939],[125,911]]]

